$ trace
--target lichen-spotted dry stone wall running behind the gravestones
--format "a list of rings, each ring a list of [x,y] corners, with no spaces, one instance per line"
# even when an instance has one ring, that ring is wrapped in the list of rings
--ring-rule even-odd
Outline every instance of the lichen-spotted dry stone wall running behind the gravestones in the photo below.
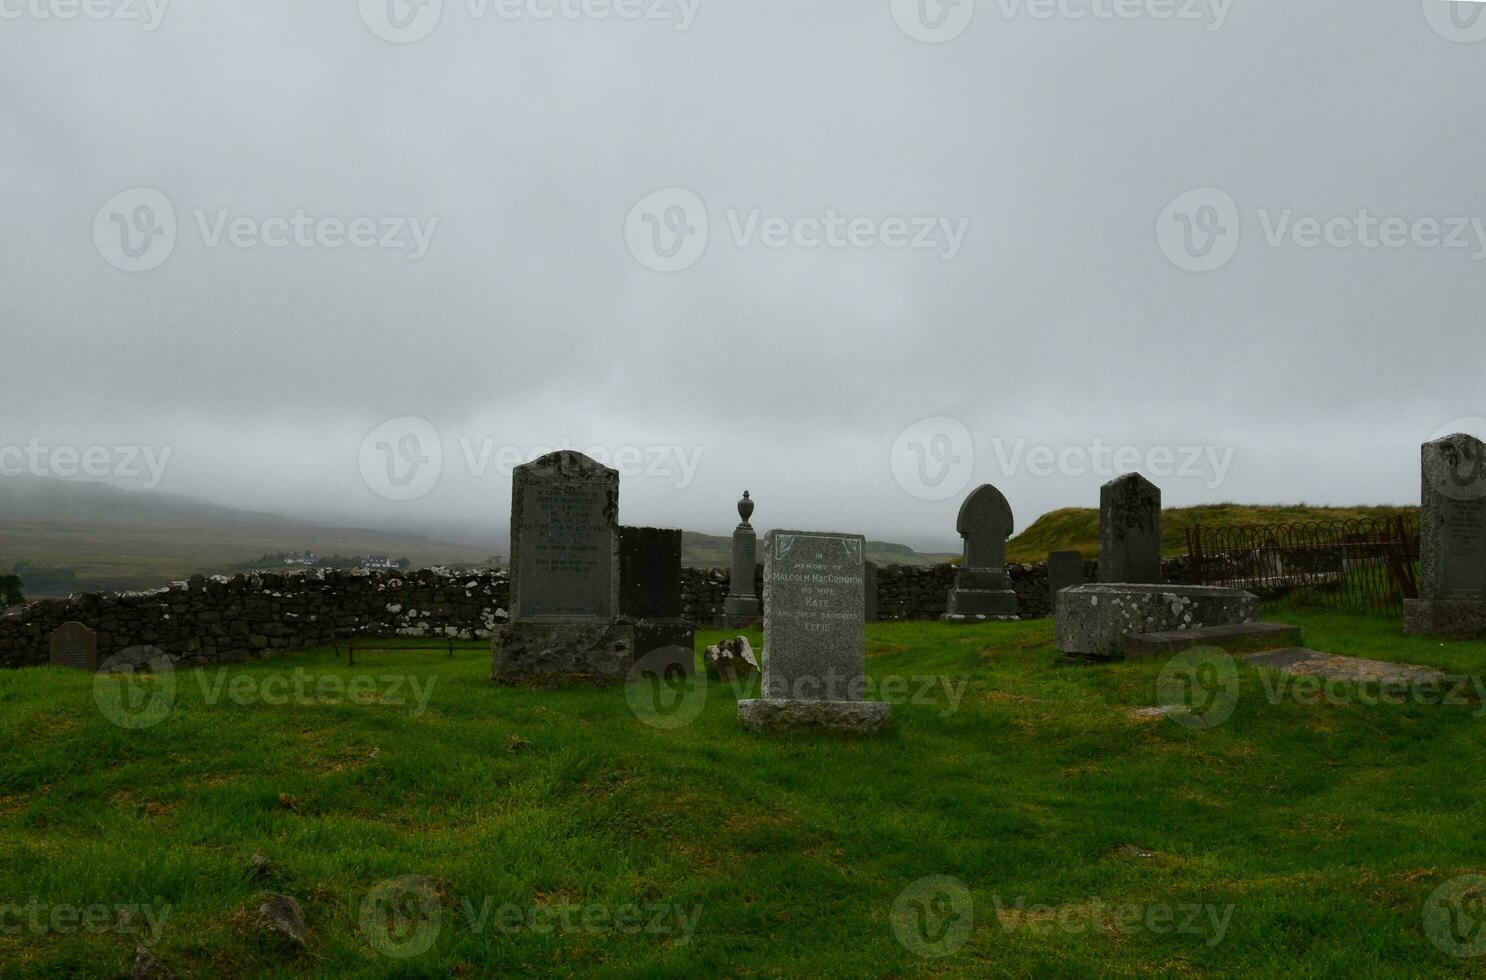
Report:
[[[1187,581],[1186,559],[1164,562],[1167,581]],[[1027,619],[1052,616],[1046,565],[1008,565]],[[1097,562],[1085,562],[1094,581]],[[878,570],[877,605],[884,620],[939,619],[954,581],[953,565]],[[762,568],[755,595],[764,593]],[[722,622],[728,573],[687,568],[684,616],[700,626]],[[487,638],[507,620],[510,580],[501,571],[254,573],[196,576],[155,592],[80,593],[45,599],[0,616],[0,668],[48,662],[48,636],[67,622],[98,631],[98,659],[135,645],[159,647],[187,662],[244,660],[352,635]]]

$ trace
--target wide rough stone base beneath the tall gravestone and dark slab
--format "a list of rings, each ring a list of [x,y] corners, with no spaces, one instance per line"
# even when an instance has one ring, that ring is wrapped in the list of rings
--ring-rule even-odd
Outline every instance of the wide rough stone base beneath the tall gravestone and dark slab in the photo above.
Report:
[[[636,662],[646,672],[694,677],[691,623],[507,623],[490,641],[490,680],[498,684],[618,684]]]

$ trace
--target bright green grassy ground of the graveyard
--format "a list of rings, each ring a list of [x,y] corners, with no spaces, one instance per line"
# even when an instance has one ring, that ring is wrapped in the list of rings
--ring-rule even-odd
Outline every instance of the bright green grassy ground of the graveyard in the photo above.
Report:
[[[1486,663],[1392,619],[1271,617]],[[0,974],[128,976],[141,944],[227,977],[1486,971],[1425,913],[1486,873],[1474,693],[1275,696],[1241,665],[1232,717],[1187,727],[1131,711],[1164,660],[1065,665],[1052,629],[871,625],[895,727],[856,741],[743,732],[756,681],[679,727],[626,689],[492,687],[484,644],[180,671],[140,730],[86,674],[3,672]],[[303,949],[260,925],[270,892]],[[1486,941],[1456,912],[1456,952]]]

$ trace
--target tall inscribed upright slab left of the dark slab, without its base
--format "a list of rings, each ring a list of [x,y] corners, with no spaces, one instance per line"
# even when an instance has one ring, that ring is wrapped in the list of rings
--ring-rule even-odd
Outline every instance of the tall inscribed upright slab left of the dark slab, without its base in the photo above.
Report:
[[[511,479],[511,617],[612,620],[618,613],[620,474],[553,452]]]

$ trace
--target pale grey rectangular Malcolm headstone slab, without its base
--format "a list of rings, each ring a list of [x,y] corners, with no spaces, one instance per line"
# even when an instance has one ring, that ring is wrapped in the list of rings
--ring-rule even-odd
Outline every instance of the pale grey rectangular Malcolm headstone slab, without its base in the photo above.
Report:
[[[764,537],[764,699],[860,700],[866,692],[866,538]]]

